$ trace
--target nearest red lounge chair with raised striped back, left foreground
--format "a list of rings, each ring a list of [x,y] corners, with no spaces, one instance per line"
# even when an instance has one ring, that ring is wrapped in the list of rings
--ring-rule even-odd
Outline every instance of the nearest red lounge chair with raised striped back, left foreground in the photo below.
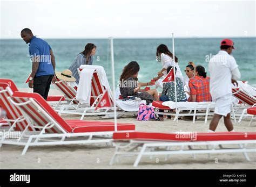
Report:
[[[8,100],[29,119],[18,139],[5,139],[0,144],[25,146],[69,145],[77,143],[108,143],[114,123],[101,121],[64,120],[38,93],[15,92]],[[28,132],[28,128],[37,131]],[[118,131],[134,131],[134,124],[117,124]],[[11,130],[10,130],[11,132]],[[108,136],[108,137],[105,137]]]

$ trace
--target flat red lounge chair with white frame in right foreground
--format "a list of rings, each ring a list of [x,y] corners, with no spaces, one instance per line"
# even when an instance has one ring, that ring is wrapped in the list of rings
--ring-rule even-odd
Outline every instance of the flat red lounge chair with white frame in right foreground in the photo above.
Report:
[[[133,167],[137,167],[142,156],[152,155],[181,155],[181,154],[215,154],[215,153],[243,153],[250,161],[247,153],[256,152],[255,132],[234,133],[149,133],[123,132],[113,134],[114,153],[110,165],[117,161],[117,157],[124,155],[137,159]],[[249,145],[252,145],[250,147]],[[232,146],[232,147],[231,147]]]

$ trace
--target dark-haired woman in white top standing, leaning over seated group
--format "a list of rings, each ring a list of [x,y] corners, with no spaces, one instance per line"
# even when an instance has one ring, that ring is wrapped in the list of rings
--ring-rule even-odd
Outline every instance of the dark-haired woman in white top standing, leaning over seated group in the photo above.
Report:
[[[157,47],[157,60],[159,62],[162,62],[162,67],[163,69],[161,69],[159,72],[158,72],[158,76],[157,77],[154,77],[153,79],[154,80],[159,80],[159,78],[161,77],[165,77],[167,75],[167,71],[166,69],[169,67],[169,66],[175,66],[177,68],[177,73],[176,73],[176,76],[179,77],[181,79],[181,81],[183,82],[183,85],[185,85],[185,81],[184,81],[184,78],[182,76],[182,73],[181,73],[181,70],[179,68],[179,64],[178,64],[178,58],[175,56],[175,63],[173,62],[173,54],[169,51],[168,47],[164,44],[161,44]]]

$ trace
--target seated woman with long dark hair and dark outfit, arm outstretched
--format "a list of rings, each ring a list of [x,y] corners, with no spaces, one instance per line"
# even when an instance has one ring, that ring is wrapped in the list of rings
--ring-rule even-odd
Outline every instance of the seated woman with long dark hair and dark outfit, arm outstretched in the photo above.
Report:
[[[135,61],[130,62],[124,67],[123,73],[120,76],[119,88],[123,98],[127,96],[139,97],[146,100],[147,104],[152,103],[153,100],[159,100],[156,89],[143,91],[140,87],[152,85],[151,82],[142,83],[138,81],[139,64]]]

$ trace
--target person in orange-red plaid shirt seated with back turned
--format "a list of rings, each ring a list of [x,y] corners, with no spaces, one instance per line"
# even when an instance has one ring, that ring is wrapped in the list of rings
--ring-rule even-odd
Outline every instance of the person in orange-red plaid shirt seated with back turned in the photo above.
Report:
[[[206,76],[205,68],[197,66],[195,76],[190,78],[188,85],[190,87],[191,102],[211,102],[210,77]]]

